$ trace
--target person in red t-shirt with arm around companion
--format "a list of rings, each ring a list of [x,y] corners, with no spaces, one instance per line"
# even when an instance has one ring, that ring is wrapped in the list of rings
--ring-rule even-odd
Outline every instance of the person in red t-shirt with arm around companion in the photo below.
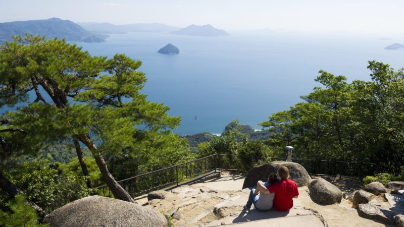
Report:
[[[262,193],[275,193],[273,208],[278,211],[288,211],[293,207],[293,198],[297,198],[299,190],[296,183],[288,179],[289,169],[286,166],[281,165],[278,168],[278,176],[280,181],[275,184],[265,187],[262,181],[257,183],[257,187],[260,188]]]

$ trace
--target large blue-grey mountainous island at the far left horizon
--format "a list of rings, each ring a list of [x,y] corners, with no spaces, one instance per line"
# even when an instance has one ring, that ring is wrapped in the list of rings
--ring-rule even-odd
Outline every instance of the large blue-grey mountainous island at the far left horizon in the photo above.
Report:
[[[72,21],[51,18],[0,23],[0,44],[13,40],[12,35],[25,36],[25,33],[44,35],[47,39],[57,37],[66,41],[104,42],[106,39],[106,36],[93,34]]]

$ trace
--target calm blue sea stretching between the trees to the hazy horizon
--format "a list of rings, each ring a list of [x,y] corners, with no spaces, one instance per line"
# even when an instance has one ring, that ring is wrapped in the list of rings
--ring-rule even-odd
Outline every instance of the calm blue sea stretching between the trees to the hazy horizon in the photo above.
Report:
[[[271,113],[288,109],[320,86],[319,70],[348,81],[370,80],[369,60],[404,66],[404,49],[385,50],[404,37],[302,32],[230,32],[199,37],[160,33],[112,34],[103,43],[78,45],[93,55],[125,53],[140,60],[148,100],[181,116],[180,135],[219,134],[232,120],[260,129]],[[180,54],[157,51],[171,43]],[[195,120],[197,116],[197,120]]]

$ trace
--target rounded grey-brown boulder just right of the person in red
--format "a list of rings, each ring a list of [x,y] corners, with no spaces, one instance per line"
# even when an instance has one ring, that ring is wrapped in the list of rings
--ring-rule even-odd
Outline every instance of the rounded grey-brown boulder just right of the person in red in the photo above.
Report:
[[[309,192],[312,200],[319,204],[340,203],[342,199],[342,191],[322,178],[315,179],[309,184]]]

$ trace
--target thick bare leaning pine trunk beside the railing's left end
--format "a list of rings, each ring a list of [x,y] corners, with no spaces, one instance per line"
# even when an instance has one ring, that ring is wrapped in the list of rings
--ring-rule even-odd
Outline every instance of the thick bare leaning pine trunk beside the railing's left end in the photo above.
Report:
[[[95,162],[98,165],[99,171],[103,175],[104,181],[107,183],[108,188],[111,190],[112,194],[116,199],[120,199],[127,202],[135,202],[133,198],[129,195],[125,189],[122,188],[117,181],[115,181],[114,177],[108,171],[107,163],[105,163],[103,156],[99,153],[97,147],[91,140],[88,138],[87,135],[77,135],[77,138],[84,143],[91,153],[94,155]]]

